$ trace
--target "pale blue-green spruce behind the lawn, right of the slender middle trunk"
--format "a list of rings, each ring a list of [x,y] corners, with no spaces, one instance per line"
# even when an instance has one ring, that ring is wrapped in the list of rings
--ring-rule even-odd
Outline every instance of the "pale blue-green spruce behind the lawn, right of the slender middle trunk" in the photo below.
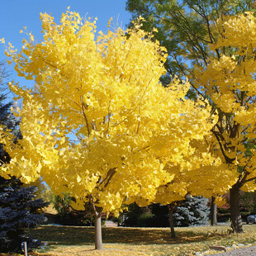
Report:
[[[175,226],[208,225],[210,209],[205,197],[186,197],[173,214]]]

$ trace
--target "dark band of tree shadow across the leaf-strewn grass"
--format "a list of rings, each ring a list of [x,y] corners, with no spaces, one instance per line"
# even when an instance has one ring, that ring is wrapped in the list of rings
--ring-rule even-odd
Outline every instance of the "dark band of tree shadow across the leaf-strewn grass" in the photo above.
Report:
[[[93,227],[40,226],[31,230],[33,239],[49,244],[85,245],[93,244]],[[168,229],[102,228],[103,243],[121,244],[183,244],[216,239],[225,234],[215,232],[177,231],[177,239],[171,239]]]

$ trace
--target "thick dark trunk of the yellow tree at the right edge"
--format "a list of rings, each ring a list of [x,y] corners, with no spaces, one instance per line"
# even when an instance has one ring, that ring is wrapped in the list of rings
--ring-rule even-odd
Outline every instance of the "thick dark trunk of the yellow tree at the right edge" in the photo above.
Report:
[[[234,233],[243,233],[242,218],[239,211],[239,184],[230,188],[231,227]]]

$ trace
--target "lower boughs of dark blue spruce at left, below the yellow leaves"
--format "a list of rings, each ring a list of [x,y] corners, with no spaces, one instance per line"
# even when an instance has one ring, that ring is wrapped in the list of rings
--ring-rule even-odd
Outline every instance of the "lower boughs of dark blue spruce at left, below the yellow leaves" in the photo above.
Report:
[[[0,177],[0,252],[21,252],[24,241],[29,248],[38,245],[26,237],[26,230],[45,220],[41,209],[48,203],[34,199],[35,192],[36,187],[24,187],[18,178]]]

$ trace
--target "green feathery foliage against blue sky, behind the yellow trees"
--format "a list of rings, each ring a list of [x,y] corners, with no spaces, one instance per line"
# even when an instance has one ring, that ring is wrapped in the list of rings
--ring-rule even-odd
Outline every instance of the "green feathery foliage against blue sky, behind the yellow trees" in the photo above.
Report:
[[[216,41],[212,25],[218,18],[254,10],[253,0],[128,0],[126,10],[132,19],[145,18],[143,29],[165,46],[168,75],[183,77],[192,73],[193,65],[207,65],[209,46]],[[187,65],[186,65],[187,64]]]

